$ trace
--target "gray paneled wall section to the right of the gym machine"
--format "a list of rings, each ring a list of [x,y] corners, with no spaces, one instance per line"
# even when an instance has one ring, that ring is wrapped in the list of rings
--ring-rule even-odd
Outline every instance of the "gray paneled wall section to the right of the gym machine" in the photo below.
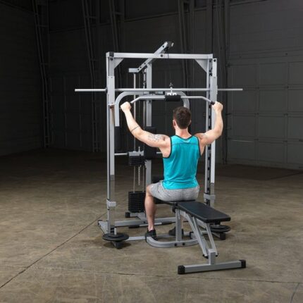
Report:
[[[302,168],[303,23],[299,16],[302,5],[295,0],[230,6],[228,82],[245,89],[228,96],[230,162]],[[246,101],[240,103],[241,99]],[[254,135],[247,129],[253,124]],[[239,136],[254,140],[254,159],[251,152],[249,159],[245,156],[249,152],[245,144],[235,143]]]

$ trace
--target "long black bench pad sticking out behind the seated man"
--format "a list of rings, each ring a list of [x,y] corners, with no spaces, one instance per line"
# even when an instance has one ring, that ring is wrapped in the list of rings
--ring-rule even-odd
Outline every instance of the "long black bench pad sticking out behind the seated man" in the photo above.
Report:
[[[230,216],[221,213],[221,211],[217,211],[202,202],[177,202],[175,206],[181,211],[185,211],[185,213],[198,218],[204,223],[230,221]]]

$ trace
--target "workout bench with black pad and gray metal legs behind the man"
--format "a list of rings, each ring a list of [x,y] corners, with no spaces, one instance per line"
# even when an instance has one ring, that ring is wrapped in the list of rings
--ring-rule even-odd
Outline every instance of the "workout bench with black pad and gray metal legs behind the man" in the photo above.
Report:
[[[169,235],[159,235],[157,240],[152,237],[147,237],[147,243],[154,247],[181,247],[190,246],[199,243],[202,249],[203,256],[208,259],[207,264],[192,264],[192,265],[180,265],[178,266],[178,273],[198,273],[202,271],[218,271],[222,269],[231,268],[245,268],[245,260],[228,261],[223,263],[216,263],[216,256],[218,251],[214,242],[213,235],[211,233],[210,224],[219,224],[224,221],[230,221],[230,216],[223,214],[221,211],[207,206],[202,202],[195,201],[180,201],[180,202],[164,202],[163,204],[169,204],[173,206],[175,211],[175,240],[173,241],[159,241],[158,239],[165,239],[170,237]],[[190,239],[183,240],[182,227],[180,216],[183,216],[185,220],[190,223],[192,232],[185,233],[184,236],[189,236]],[[204,222],[205,230],[201,231],[199,228],[198,220]],[[206,242],[204,234],[209,237],[209,244]]]

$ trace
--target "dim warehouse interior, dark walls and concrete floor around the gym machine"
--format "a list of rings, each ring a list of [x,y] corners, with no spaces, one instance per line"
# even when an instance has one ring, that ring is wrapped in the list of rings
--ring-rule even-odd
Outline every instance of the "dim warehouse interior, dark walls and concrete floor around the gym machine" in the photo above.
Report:
[[[302,13],[298,0],[0,0],[0,302],[302,302]],[[178,275],[207,262],[199,245],[116,249],[98,225],[109,207],[106,93],[75,89],[106,87],[106,53],[153,54],[164,42],[168,56],[213,54],[218,87],[243,89],[218,92],[216,209],[231,221],[214,242],[217,259],[246,268]],[[116,87],[134,87],[129,68],[143,61],[123,60]],[[194,61],[155,60],[152,87],[205,87],[205,74]],[[157,133],[174,135],[179,105],[153,103]],[[191,133],[206,132],[205,102],[190,109]],[[133,137],[120,117],[123,154]],[[128,156],[116,159],[119,220],[133,172]],[[152,173],[163,174],[160,155]],[[175,215],[163,204],[156,216]]]

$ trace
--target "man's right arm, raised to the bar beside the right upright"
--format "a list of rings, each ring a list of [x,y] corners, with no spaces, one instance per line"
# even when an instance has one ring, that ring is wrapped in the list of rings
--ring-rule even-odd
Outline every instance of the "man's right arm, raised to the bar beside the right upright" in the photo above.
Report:
[[[212,130],[209,130],[205,133],[198,133],[195,136],[197,136],[200,140],[200,143],[203,146],[209,145],[215,140],[218,139],[222,135],[223,131],[223,119],[222,119],[222,110],[223,110],[223,105],[219,102],[216,102],[213,105],[213,110],[216,113],[216,120],[215,120],[215,126]]]

